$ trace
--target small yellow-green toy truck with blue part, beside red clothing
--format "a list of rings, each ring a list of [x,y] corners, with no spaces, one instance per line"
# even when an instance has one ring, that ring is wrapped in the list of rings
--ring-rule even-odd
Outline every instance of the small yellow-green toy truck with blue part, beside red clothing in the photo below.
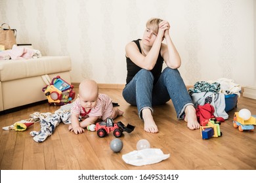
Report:
[[[200,133],[202,139],[210,139],[211,137],[221,137],[223,133],[221,132],[221,122],[217,122],[215,118],[205,120],[200,126]]]

